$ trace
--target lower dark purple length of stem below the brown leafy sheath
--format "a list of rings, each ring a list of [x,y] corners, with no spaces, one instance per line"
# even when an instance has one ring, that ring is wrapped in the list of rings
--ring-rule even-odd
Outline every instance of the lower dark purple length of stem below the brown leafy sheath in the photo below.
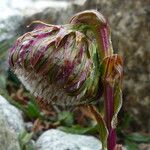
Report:
[[[109,83],[105,84],[105,121],[109,132],[107,148],[108,150],[114,150],[116,146],[116,131],[111,126],[111,120],[114,113],[114,88]]]

